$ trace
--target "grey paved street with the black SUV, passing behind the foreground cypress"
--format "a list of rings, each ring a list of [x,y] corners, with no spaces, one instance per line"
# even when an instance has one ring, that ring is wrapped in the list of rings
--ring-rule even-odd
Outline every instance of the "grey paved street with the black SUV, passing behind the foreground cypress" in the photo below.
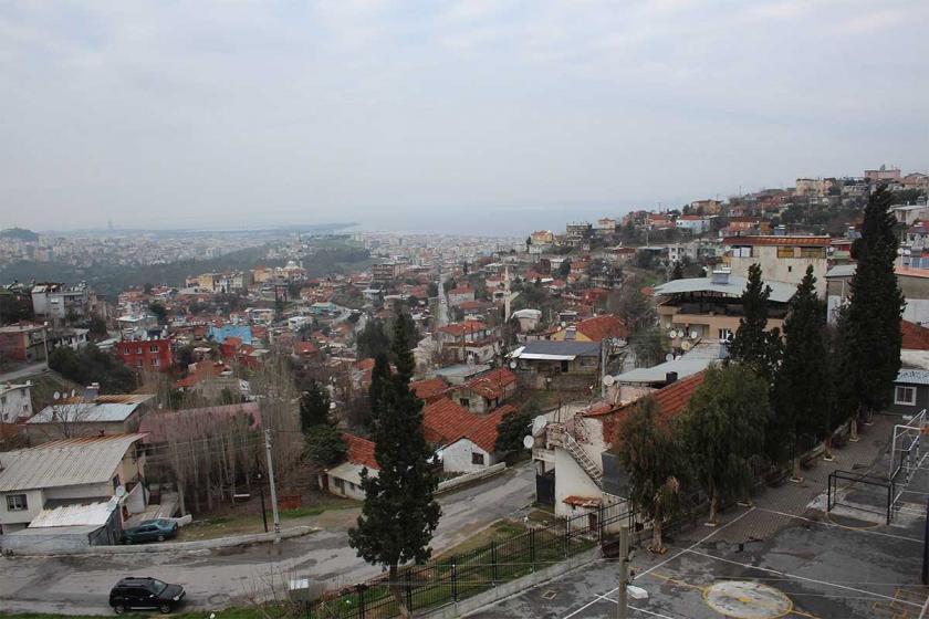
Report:
[[[434,547],[449,547],[529,504],[534,497],[531,465],[440,499],[442,518]],[[269,578],[309,576],[346,585],[379,574],[347,544],[351,517],[332,518],[331,528],[280,546],[261,544],[216,552],[95,557],[0,558],[0,608],[65,615],[107,611],[109,588],[123,576],[155,576],[180,583],[188,608],[217,608],[267,589]],[[324,521],[325,522],[325,521]]]

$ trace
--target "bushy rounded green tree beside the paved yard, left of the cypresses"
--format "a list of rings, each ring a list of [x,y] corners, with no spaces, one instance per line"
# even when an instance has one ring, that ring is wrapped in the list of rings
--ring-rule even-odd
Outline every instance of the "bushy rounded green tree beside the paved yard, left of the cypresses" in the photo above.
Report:
[[[680,419],[690,471],[710,497],[710,523],[720,500],[751,487],[752,461],[764,448],[771,417],[768,381],[751,366],[710,366]]]

